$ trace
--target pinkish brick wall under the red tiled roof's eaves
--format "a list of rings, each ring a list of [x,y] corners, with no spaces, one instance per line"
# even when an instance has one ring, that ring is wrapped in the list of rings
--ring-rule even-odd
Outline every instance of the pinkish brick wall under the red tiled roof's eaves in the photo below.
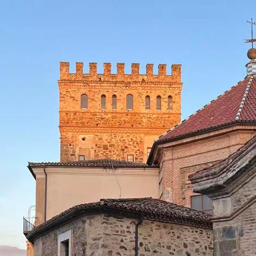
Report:
[[[208,165],[220,161],[237,151],[238,148],[250,140],[255,131],[238,130],[207,136],[201,139],[164,145],[161,165],[163,179],[160,182],[162,191],[161,198],[181,205],[190,206],[190,195],[193,188],[189,186],[187,179],[189,168],[191,172],[196,171],[196,166]],[[195,166],[195,167],[193,167]],[[188,169],[187,169],[188,168]],[[195,169],[195,170],[193,170]]]

